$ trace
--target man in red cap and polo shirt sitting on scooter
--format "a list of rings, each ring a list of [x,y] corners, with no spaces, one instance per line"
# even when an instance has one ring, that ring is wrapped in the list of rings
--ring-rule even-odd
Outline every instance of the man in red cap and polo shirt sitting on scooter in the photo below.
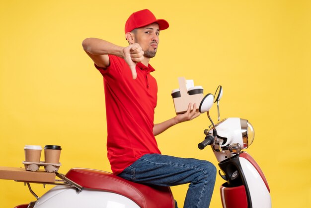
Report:
[[[125,24],[129,46],[87,38],[82,46],[103,75],[108,159],[114,174],[137,183],[175,186],[190,183],[185,208],[208,208],[216,168],[208,161],[161,155],[155,136],[199,116],[196,105],[187,112],[154,124],[156,80],[149,64],[156,55],[160,30],[168,28],[148,9],[134,12]]]

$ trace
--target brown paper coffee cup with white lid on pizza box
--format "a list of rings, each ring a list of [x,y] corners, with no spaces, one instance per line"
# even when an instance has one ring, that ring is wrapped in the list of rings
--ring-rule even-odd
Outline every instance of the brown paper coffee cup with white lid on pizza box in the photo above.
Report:
[[[33,162],[33,163],[40,163],[41,151],[42,147],[38,145],[25,145],[25,161],[26,162]],[[25,165],[26,170],[30,171],[37,171],[39,170],[38,164],[28,164]]]

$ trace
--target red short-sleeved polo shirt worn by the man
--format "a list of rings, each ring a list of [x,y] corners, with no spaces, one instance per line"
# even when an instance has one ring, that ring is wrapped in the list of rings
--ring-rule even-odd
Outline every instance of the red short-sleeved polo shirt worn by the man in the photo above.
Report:
[[[121,173],[145,154],[160,154],[153,134],[157,100],[155,69],[137,63],[137,79],[124,59],[109,55],[107,69],[95,67],[103,75],[108,159],[114,174]]]

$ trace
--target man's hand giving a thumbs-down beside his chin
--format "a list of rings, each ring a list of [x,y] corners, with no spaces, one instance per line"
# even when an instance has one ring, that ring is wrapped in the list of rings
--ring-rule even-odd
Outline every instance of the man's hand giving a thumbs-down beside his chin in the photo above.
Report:
[[[137,78],[136,64],[144,60],[144,51],[138,43],[123,48],[124,60],[129,65],[133,80]]]

